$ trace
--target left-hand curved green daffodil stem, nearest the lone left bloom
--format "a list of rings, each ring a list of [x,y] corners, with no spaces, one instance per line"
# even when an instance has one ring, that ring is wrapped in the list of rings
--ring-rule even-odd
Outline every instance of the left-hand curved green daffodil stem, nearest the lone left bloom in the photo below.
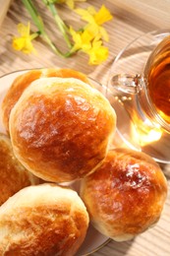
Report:
[[[50,40],[48,34],[45,32],[43,21],[38,14],[37,10],[32,4],[31,0],[22,0],[26,8],[28,9],[28,13],[30,14],[32,21],[36,25],[37,29],[39,30],[39,33],[43,36],[44,40],[47,42],[47,44],[52,48],[52,50],[59,56],[67,57],[68,53],[63,54],[56,46],[55,44]]]

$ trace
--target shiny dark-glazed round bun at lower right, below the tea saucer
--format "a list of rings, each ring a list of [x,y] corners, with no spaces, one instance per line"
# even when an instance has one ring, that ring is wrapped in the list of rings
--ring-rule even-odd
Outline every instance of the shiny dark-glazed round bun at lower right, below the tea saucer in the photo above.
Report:
[[[132,239],[160,217],[167,183],[159,165],[141,152],[116,149],[81,185],[89,219],[117,241]]]

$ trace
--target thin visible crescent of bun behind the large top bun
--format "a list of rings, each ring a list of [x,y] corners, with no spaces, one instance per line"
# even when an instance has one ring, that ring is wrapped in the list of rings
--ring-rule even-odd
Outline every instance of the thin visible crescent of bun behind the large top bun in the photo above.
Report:
[[[28,88],[31,82],[45,77],[77,78],[87,84],[89,83],[83,73],[72,69],[51,68],[30,70],[27,73],[17,77],[7,92],[7,95],[4,97],[2,103],[2,120],[7,132],[9,132],[9,116],[15,103],[19,100],[20,96],[22,96],[23,92],[26,88]]]

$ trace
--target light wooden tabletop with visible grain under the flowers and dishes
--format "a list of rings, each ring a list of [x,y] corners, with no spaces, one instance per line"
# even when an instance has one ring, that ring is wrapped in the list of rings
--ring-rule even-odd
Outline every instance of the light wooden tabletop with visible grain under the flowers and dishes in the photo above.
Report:
[[[41,1],[37,1],[41,2]],[[103,1],[88,1],[99,8]],[[158,29],[170,29],[170,1],[168,0],[108,0],[104,1],[107,8],[114,15],[113,21],[106,24],[110,40],[107,43],[110,55],[108,60],[99,66],[87,65],[84,54],[78,54],[72,58],[64,59],[56,56],[43,42],[38,39],[34,46],[37,55],[24,55],[14,51],[11,47],[12,34],[17,32],[17,24],[27,24],[29,15],[19,0],[13,1],[7,16],[1,26],[0,37],[0,75],[21,69],[39,67],[67,67],[84,72],[87,76],[106,85],[111,64],[118,52],[131,42],[135,37],[144,32]],[[85,3],[86,5],[86,3]],[[44,14],[44,8],[40,4],[40,10]],[[63,12],[64,19],[74,24],[76,18],[70,16],[69,10]],[[56,41],[62,46],[63,43],[58,32],[55,33]],[[57,39],[59,38],[59,39]],[[1,86],[1,85],[0,85]],[[162,165],[170,188],[170,165]],[[170,255],[170,194],[166,200],[163,214],[155,227],[147,230],[132,241],[115,242],[110,241],[103,248],[93,253],[94,256],[168,256]]]

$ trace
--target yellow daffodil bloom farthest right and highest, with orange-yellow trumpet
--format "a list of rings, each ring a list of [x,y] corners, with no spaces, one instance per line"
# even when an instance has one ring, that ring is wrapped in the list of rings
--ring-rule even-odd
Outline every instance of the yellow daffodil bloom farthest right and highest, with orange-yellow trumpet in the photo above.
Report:
[[[82,17],[82,20],[87,22],[85,29],[92,32],[93,34],[99,35],[104,40],[108,41],[109,36],[106,30],[102,25],[113,19],[113,16],[110,14],[109,10],[102,5],[98,12],[90,6],[85,9],[76,9],[76,12]]]

